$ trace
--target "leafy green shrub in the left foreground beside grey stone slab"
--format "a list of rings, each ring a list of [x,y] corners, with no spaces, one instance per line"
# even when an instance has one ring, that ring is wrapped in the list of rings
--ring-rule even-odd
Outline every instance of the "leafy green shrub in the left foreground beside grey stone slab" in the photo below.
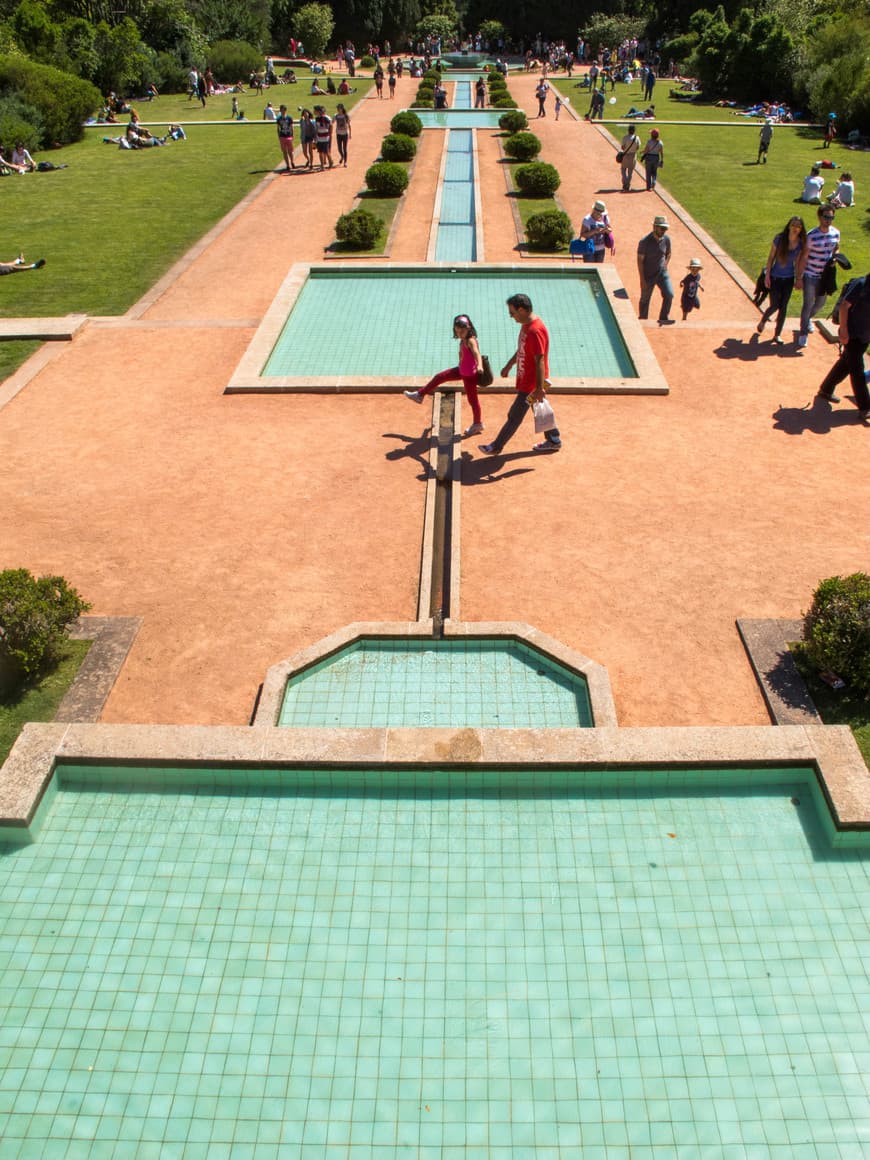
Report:
[[[0,572],[0,686],[14,688],[45,668],[72,622],[90,608],[63,577],[27,568]]]

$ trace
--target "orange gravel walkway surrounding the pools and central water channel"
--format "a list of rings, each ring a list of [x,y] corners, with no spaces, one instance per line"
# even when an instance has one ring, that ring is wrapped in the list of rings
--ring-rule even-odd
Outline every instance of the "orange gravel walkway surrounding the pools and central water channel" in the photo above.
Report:
[[[534,116],[534,79],[512,89]],[[86,325],[0,409],[2,565],[144,617],[106,722],[244,723],[276,660],[350,621],[415,616],[428,408],[222,393],[412,93],[405,78],[401,100],[364,101],[348,169],[267,179],[138,320]],[[616,191],[587,123],[531,128],[575,224],[608,202],[637,302],[635,247],[659,197]],[[521,261],[495,135],[479,132],[479,154],[486,259]],[[393,260],[426,259],[440,159],[427,132]],[[754,340],[751,303],[669,216],[675,281],[690,256],[705,266],[698,317],[647,331],[669,397],[557,399],[565,449],[545,459],[530,425],[498,459],[469,448],[459,615],[531,622],[606,665],[624,725],[764,723],[734,619],[797,616],[821,577],[868,567],[870,430],[848,403],[812,405],[833,348]],[[317,341],[340,326],[324,319]],[[490,433],[508,403],[484,400]]]

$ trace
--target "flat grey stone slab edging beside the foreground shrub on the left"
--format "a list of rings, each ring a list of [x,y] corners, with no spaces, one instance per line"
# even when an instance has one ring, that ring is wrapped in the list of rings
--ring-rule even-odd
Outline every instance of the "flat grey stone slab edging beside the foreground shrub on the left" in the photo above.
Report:
[[[93,640],[75,680],[55,713],[56,722],[97,722],[142,626],[138,616],[80,616],[72,640]]]

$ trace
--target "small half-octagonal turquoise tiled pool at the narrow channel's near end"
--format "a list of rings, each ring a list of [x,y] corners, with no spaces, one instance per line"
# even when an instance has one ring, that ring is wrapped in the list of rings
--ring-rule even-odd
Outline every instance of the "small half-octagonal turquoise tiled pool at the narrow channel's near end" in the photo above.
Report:
[[[586,679],[515,640],[355,641],[288,681],[278,725],[592,725]]]

